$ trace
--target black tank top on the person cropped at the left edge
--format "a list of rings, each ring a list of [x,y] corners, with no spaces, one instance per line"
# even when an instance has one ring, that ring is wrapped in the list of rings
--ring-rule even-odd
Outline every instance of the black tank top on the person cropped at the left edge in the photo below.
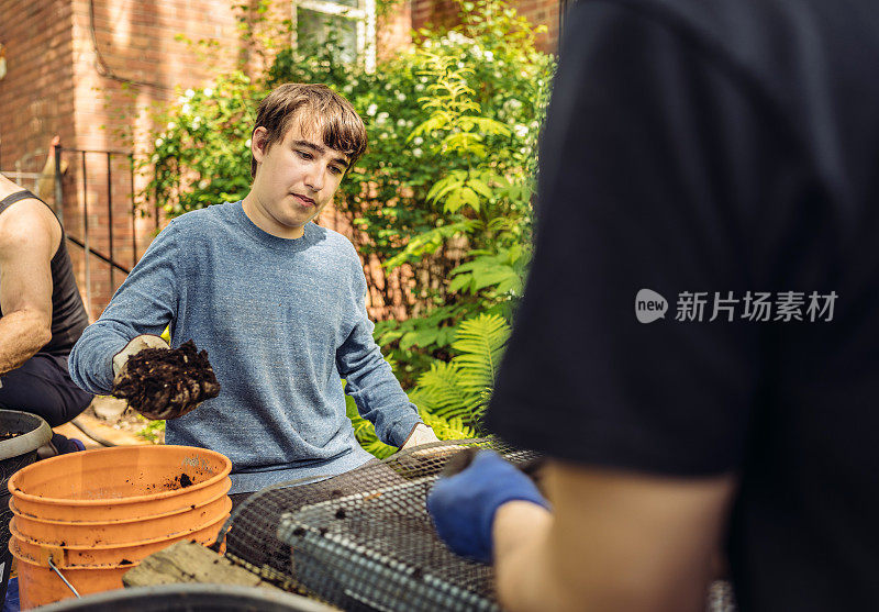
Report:
[[[26,190],[16,191],[12,196],[0,200],[0,214],[3,214],[11,204],[30,198],[40,200],[40,198]],[[43,202],[43,200],[40,201]],[[45,202],[43,203],[45,204]],[[49,210],[52,209],[49,208]],[[2,311],[0,311],[0,318],[2,315]],[[70,264],[64,226],[62,226],[62,241],[58,245],[58,251],[52,257],[52,340],[40,352],[52,355],[69,354],[76,341],[82,335],[82,330],[88,324],[89,318],[86,314],[82,298],[79,296],[79,289],[76,286],[74,266]]]

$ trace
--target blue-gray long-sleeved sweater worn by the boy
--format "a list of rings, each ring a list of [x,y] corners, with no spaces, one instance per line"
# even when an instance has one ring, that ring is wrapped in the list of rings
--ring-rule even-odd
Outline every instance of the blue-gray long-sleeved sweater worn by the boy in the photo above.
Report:
[[[233,461],[232,492],[336,475],[370,458],[345,416],[340,377],[379,438],[400,446],[420,419],[372,341],[366,279],[347,238],[313,223],[267,234],[241,202],[175,219],[70,354],[82,389],[108,393],[112,357],[170,323],[171,346],[207,349],[220,396],[167,422],[166,442]]]

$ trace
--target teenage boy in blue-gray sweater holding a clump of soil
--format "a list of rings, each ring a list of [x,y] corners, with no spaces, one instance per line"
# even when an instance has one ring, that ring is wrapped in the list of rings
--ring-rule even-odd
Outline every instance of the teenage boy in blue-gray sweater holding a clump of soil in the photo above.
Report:
[[[232,491],[351,470],[370,455],[340,378],[378,437],[434,442],[372,340],[354,246],[311,223],[366,148],[366,129],[322,85],[288,84],[259,105],[243,201],[183,214],[153,242],[70,356],[107,393],[125,360],[170,324],[171,346],[207,349],[220,396],[167,422],[166,442],[219,450]]]

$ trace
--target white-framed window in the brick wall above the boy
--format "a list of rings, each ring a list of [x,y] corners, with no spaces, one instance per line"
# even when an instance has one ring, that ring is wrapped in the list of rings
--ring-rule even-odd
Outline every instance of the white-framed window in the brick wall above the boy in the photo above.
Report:
[[[293,44],[322,44],[331,30],[338,36],[346,62],[361,59],[366,70],[376,69],[375,0],[293,0]]]

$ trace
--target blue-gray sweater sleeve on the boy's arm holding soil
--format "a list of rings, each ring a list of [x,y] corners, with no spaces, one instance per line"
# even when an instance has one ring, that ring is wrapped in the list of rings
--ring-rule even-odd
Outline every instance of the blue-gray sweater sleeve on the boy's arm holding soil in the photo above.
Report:
[[[86,327],[70,353],[73,381],[90,393],[109,393],[113,356],[135,336],[160,334],[174,320],[181,286],[177,227],[171,222],[113,296],[100,319]]]

